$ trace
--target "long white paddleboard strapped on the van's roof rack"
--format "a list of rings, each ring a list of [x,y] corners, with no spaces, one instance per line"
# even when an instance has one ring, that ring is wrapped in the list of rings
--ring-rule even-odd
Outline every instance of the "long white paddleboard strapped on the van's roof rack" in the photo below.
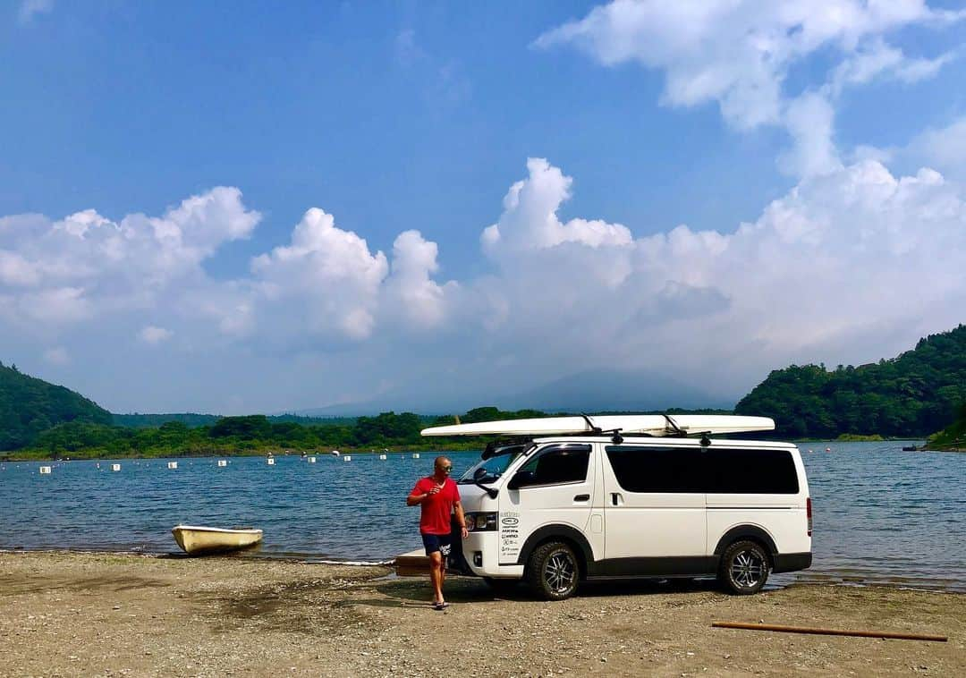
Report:
[[[596,429],[596,431],[595,431]],[[475,424],[434,426],[423,436],[555,436],[620,431],[624,435],[681,436],[772,431],[775,420],[766,416],[733,414],[605,414],[550,416],[542,419],[503,419]]]

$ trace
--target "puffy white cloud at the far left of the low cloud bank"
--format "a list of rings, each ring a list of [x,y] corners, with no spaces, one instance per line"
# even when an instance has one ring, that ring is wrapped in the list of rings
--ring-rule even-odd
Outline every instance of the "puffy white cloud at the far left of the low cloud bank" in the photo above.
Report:
[[[203,284],[202,262],[222,243],[250,235],[260,218],[245,210],[241,191],[227,187],[191,196],[159,217],[128,214],[115,222],[95,210],[58,221],[5,217],[0,295],[14,294],[8,314],[63,324],[149,308],[186,281]]]

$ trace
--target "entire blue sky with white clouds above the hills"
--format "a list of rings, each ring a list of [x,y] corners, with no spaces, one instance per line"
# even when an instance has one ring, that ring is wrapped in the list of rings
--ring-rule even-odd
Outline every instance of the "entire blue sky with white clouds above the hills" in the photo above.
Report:
[[[3,3],[0,359],[115,411],[244,412],[668,365],[733,401],[892,356],[963,320],[964,27],[917,0]]]

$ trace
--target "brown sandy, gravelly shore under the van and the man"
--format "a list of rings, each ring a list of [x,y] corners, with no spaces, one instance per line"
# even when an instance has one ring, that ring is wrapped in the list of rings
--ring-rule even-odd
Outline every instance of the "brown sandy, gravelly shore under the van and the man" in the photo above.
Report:
[[[799,585],[588,585],[562,603],[386,568],[218,557],[0,553],[0,674],[966,675],[966,597]],[[717,620],[949,636],[949,642],[712,629]]]

